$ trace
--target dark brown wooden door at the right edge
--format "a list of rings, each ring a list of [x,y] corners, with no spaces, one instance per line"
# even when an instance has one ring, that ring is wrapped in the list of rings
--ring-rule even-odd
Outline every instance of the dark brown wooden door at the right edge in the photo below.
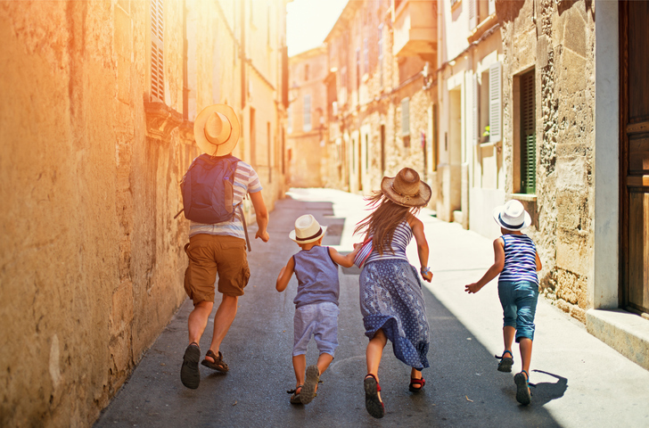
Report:
[[[621,305],[649,314],[649,2],[620,2]]]

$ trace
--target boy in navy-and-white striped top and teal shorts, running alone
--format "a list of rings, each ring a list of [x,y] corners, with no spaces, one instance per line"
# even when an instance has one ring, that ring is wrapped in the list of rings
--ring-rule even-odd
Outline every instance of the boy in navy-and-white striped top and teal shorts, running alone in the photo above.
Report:
[[[494,219],[503,234],[494,241],[494,264],[480,281],[468,284],[464,291],[479,292],[498,274],[498,297],[503,305],[503,341],[505,350],[498,371],[511,372],[513,365],[512,342],[514,333],[521,351],[522,370],[513,376],[516,383],[516,400],[522,405],[531,401],[530,361],[534,339],[534,315],[538,301],[538,275],[541,259],[537,248],[521,229],[530,226],[530,214],[516,200],[505,203],[493,211]],[[505,357],[505,354],[509,354]]]

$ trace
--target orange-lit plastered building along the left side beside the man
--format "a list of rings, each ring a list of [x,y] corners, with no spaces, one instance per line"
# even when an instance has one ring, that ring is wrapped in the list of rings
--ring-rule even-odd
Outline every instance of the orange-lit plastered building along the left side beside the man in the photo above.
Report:
[[[269,208],[283,193],[285,1],[266,5],[0,3],[0,425],[92,424],[185,300],[198,111],[234,106],[234,155]]]

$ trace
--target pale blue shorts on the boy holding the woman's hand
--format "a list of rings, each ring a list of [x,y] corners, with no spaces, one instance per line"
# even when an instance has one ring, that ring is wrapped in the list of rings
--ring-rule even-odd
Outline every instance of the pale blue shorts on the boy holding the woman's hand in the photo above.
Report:
[[[317,350],[333,357],[338,347],[338,314],[341,309],[330,301],[313,303],[295,309],[293,317],[293,357],[307,353],[311,334]]]

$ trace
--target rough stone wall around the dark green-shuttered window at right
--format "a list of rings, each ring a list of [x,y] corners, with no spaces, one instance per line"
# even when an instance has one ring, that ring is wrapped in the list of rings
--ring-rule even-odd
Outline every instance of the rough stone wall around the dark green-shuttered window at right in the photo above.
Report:
[[[536,6],[536,9],[535,9]],[[546,296],[585,321],[592,248],[595,144],[595,16],[592,2],[498,2],[503,26],[503,110],[507,193],[514,171],[516,75],[534,68],[537,113],[536,201],[530,235],[545,264]],[[512,194],[512,197],[516,197]]]

